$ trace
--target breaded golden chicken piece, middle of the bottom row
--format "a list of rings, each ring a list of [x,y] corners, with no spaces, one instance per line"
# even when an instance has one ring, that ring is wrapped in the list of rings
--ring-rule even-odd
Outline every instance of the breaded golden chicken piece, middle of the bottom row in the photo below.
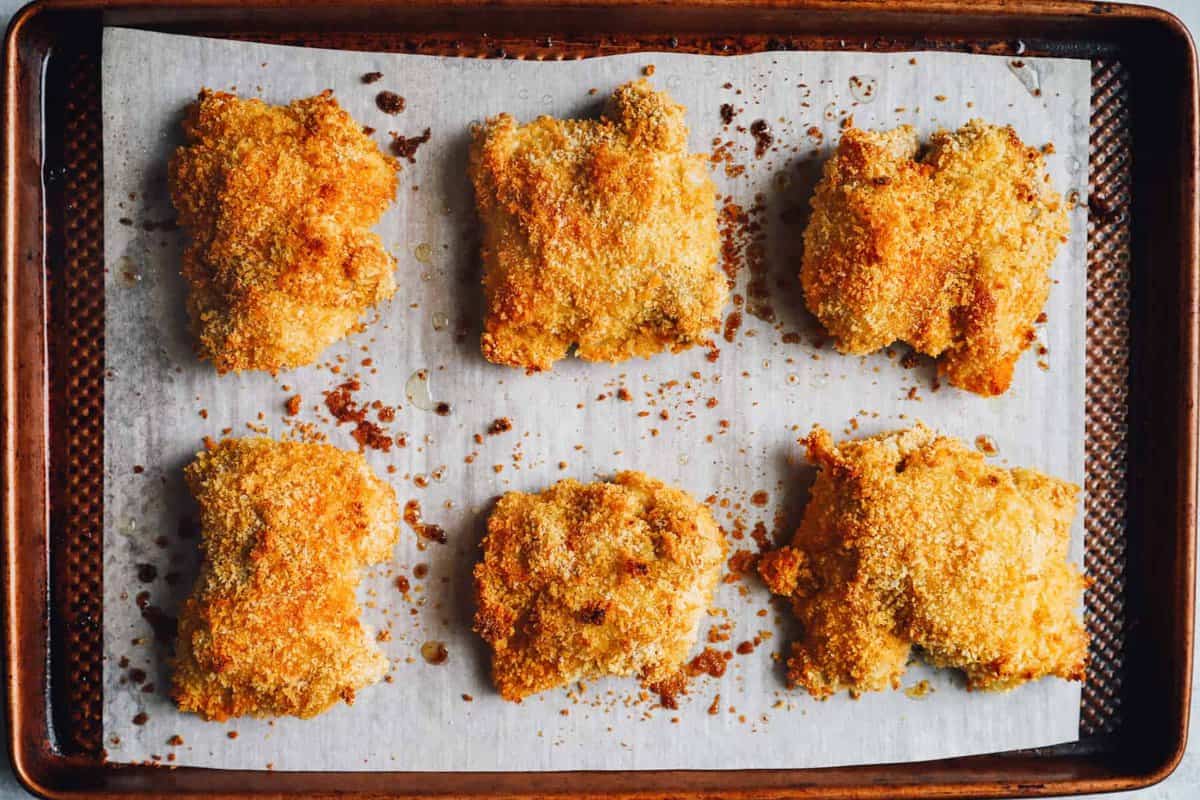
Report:
[[[509,492],[475,565],[475,631],[500,694],[600,675],[647,686],[680,674],[712,600],[725,539],[708,509],[642,473]]]

